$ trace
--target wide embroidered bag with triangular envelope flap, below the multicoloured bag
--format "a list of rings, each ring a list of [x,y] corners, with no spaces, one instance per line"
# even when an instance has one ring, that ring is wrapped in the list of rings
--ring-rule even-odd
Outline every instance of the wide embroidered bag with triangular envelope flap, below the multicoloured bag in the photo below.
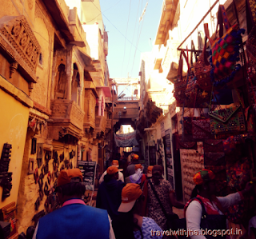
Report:
[[[242,112],[242,106],[231,106],[222,110],[214,110],[208,113],[210,115],[211,133],[234,134],[241,133],[246,130],[246,122]],[[219,137],[218,137],[219,138]]]

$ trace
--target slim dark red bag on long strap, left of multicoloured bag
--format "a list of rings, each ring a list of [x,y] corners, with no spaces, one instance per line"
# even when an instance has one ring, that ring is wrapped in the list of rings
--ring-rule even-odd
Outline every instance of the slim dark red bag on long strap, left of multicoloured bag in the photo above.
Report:
[[[194,65],[194,74],[197,78],[199,88],[209,94],[212,90],[212,82],[210,78],[210,70],[212,70],[212,67],[206,57],[206,42],[207,37],[209,38],[208,23],[204,24],[204,29],[206,33],[205,46],[203,47],[202,54],[198,58],[198,62]]]

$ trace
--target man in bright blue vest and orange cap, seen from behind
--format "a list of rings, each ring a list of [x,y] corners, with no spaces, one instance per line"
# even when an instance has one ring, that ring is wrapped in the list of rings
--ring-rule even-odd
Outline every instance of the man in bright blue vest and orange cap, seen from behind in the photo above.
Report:
[[[80,169],[64,169],[56,188],[62,208],[38,221],[33,239],[114,239],[106,210],[87,206],[82,201],[86,191]]]

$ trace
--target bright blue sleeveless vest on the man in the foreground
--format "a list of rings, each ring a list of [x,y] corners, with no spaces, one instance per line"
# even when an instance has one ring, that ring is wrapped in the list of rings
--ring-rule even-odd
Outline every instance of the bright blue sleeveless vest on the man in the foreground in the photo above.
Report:
[[[106,210],[71,204],[47,214],[38,222],[37,239],[108,239],[110,221]]]

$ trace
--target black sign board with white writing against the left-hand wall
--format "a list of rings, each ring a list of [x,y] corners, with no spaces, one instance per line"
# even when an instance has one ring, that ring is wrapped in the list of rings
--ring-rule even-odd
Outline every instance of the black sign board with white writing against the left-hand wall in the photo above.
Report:
[[[78,167],[82,172],[82,178],[87,190],[94,190],[96,161],[78,161]]]

